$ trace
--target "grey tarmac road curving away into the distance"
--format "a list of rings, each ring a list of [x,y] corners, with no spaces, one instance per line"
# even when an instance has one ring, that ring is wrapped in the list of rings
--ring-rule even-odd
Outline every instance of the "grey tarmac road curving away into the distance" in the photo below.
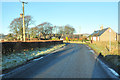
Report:
[[[31,61],[9,74],[9,78],[109,78],[109,76],[86,45],[68,44],[62,51]]]

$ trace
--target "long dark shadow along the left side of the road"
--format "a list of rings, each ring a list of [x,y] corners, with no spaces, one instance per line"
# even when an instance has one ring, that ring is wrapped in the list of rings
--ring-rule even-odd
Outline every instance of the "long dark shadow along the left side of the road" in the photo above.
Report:
[[[74,53],[74,51],[75,51],[73,49],[74,46],[72,46],[72,47],[69,47],[69,46],[72,46],[72,45],[67,44],[67,47],[64,50],[55,52],[53,54],[45,56],[43,59],[32,62],[27,67],[27,69],[24,70],[24,74],[21,74],[21,72],[19,72],[10,77],[11,78],[28,78],[28,76],[30,76],[32,78],[32,77],[35,77],[37,74],[42,74],[44,71],[46,71],[50,67],[54,66],[54,64],[58,63],[59,61],[63,60],[64,58],[66,58]]]

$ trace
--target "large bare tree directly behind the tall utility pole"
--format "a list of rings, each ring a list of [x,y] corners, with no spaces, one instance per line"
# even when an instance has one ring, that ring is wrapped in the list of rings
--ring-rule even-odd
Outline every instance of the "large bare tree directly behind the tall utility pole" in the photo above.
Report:
[[[31,16],[25,16],[25,30],[28,32],[28,26],[33,23]],[[21,17],[14,19],[9,25],[10,31],[13,32],[16,37],[23,37],[23,19]]]

